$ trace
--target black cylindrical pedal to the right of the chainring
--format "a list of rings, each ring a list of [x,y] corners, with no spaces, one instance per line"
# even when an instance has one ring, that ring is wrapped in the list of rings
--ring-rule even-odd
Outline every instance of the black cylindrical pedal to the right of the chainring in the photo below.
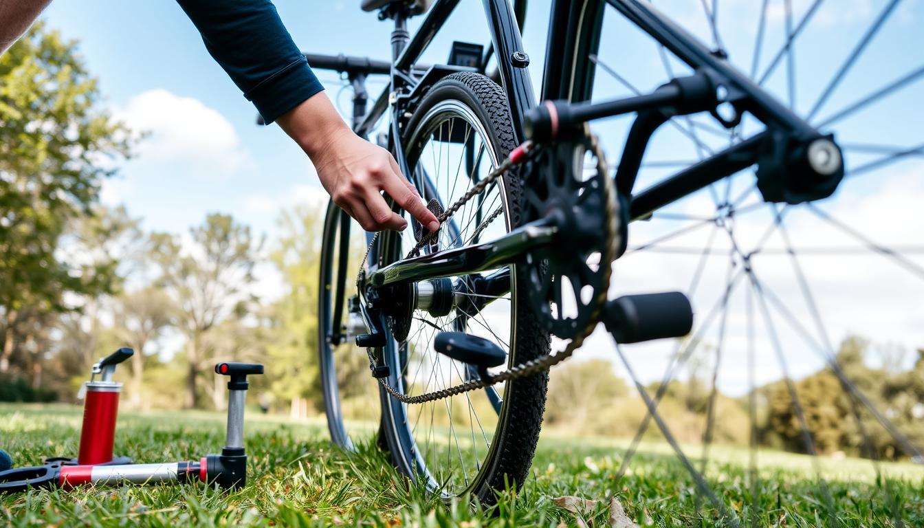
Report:
[[[626,295],[606,302],[603,322],[617,343],[681,338],[693,327],[693,307],[679,291]]]

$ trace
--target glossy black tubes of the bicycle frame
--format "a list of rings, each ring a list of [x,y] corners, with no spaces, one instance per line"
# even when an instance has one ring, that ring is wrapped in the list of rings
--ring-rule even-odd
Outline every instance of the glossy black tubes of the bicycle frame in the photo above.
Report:
[[[412,112],[413,108],[403,107],[406,100],[399,97],[399,92],[408,92],[419,81],[420,68],[416,66],[419,56],[426,50],[433,37],[443,27],[444,22],[458,6],[459,0],[436,0],[421,23],[420,29],[407,38],[406,44],[395,45],[395,57],[391,68],[391,86],[383,91],[373,104],[371,111],[358,122],[357,132],[366,135],[383,116],[391,103],[391,141],[390,146],[398,165],[407,173],[407,161],[403,138],[399,129],[399,120]],[[669,18],[664,17],[647,2],[641,0],[553,0],[550,17],[549,36],[546,44],[545,69],[542,80],[541,98],[543,100],[564,100],[571,103],[588,101],[593,85],[594,64],[590,60],[599,49],[602,32],[603,10],[606,5],[613,6],[623,17],[629,19],[642,31],[663,44],[691,68],[705,72],[717,84],[728,92],[727,101],[735,103],[736,110],[748,111],[758,118],[768,129],[783,130],[794,137],[820,137],[813,129],[788,108],[780,104],[760,86],[732,68],[722,56],[713,53],[699,43],[697,39],[679,28]],[[523,44],[517,23],[517,7],[508,0],[482,0],[485,16],[489,21],[492,36],[492,51],[498,65],[500,80],[510,105],[514,131],[517,141],[525,139],[523,130],[524,117],[535,104],[532,84],[529,80],[529,59],[523,54]],[[519,3],[517,2],[517,5]],[[403,21],[397,23],[403,28]],[[395,38],[393,38],[395,43]],[[404,45],[402,45],[404,44]],[[517,55],[515,57],[515,55]],[[404,102],[404,103],[403,103]],[[711,183],[727,178],[736,172],[753,166],[760,151],[764,133],[742,141],[729,149],[716,153],[697,165],[687,167],[663,181],[630,195],[630,219],[643,218],[661,207],[702,189]],[[646,142],[639,148],[644,151]],[[626,145],[628,149],[630,145]],[[640,154],[639,154],[640,155]],[[408,177],[410,175],[408,174]],[[616,181],[617,189],[627,189],[631,193],[635,175],[629,175],[631,181]],[[628,177],[626,177],[628,178]],[[417,182],[418,185],[422,182]],[[622,183],[622,185],[620,185]],[[485,252],[490,246],[505,248],[504,259],[490,259],[492,264],[513,264],[518,256],[514,239],[522,239],[522,231],[511,233],[494,242],[481,244],[472,248],[467,255],[466,249],[454,250],[452,255],[439,259],[439,265],[433,265],[431,259],[413,259],[414,262],[401,262],[383,266],[374,270],[369,278],[371,284],[383,286],[394,282],[423,280],[441,276],[465,275],[472,273],[468,269],[473,262],[475,252]],[[384,237],[384,239],[387,239]],[[534,240],[523,244],[522,252],[532,246]],[[457,254],[456,254],[457,253]],[[396,258],[390,255],[390,258]],[[457,258],[453,258],[457,257]],[[385,264],[378,260],[377,264]],[[390,260],[390,259],[389,259]],[[372,261],[375,262],[375,261]],[[378,266],[373,266],[378,267]]]

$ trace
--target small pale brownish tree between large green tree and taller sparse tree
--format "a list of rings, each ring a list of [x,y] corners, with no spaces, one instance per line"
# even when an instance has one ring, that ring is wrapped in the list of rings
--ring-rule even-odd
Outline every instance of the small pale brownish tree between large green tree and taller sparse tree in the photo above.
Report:
[[[116,336],[128,344],[135,355],[131,358],[131,399],[141,406],[145,356],[151,353],[149,344],[160,338],[164,329],[173,324],[175,307],[160,289],[148,287],[127,293],[116,299]]]

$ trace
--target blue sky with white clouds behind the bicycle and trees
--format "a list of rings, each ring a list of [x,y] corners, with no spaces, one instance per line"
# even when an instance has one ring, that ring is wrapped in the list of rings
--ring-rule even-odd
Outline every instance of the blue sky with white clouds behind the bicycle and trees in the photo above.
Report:
[[[357,0],[279,0],[275,4],[295,42],[306,52],[369,55],[378,59],[387,59],[390,54],[390,25],[379,21],[374,14],[361,12]],[[729,50],[733,64],[749,71],[755,55],[756,20],[761,3],[757,0],[723,0],[718,4],[716,18],[720,43]],[[785,60],[769,76],[765,86],[777,93],[781,100],[792,104],[797,112],[806,113],[884,4],[884,0],[823,3],[805,34],[794,45],[796,58],[792,71],[798,76],[795,99],[789,98],[789,70]],[[784,42],[785,5],[783,0],[771,0],[769,4],[758,71],[766,67],[772,52],[780,49]],[[791,5],[793,19],[797,21],[812,3],[809,0],[793,0]],[[703,16],[703,2],[700,0],[659,0],[655,6],[670,12],[704,42],[716,44],[708,18]],[[532,59],[530,74],[536,86],[541,80],[548,9],[548,0],[530,0],[524,30],[524,48]],[[120,176],[104,184],[103,203],[126,204],[130,213],[143,217],[144,225],[149,229],[183,233],[188,227],[201,223],[207,213],[218,211],[234,215],[258,233],[266,233],[271,238],[281,210],[296,203],[321,206],[323,190],[307,156],[278,127],[255,124],[255,109],[213,62],[198,31],[176,3],[169,0],[55,0],[43,18],[50,28],[79,41],[80,54],[86,59],[90,71],[100,79],[103,104],[130,126],[150,132],[149,139],[140,145],[136,157],[125,164]],[[857,61],[856,67],[848,72],[843,83],[821,108],[816,121],[833,115],[837,109],[911,69],[920,68],[924,64],[924,56],[920,52],[924,49],[924,34],[919,31],[922,22],[924,7],[920,2],[900,3],[883,26],[883,31]],[[411,20],[411,31],[418,24],[419,18]],[[444,33],[437,36],[421,61],[443,62],[453,36],[461,36],[468,42],[489,42],[480,2],[462,2]],[[625,20],[611,14],[604,18],[599,60],[618,66],[620,71],[631,72],[631,77],[626,74],[626,79],[643,92],[667,80],[665,61],[657,46],[642,39],[638,30],[626,24]],[[666,66],[678,75],[688,71],[670,57],[666,59]],[[341,90],[342,80],[329,72],[319,72],[319,77],[336,104],[347,109],[350,92]],[[370,91],[377,93],[382,86],[382,80],[372,81]],[[859,146],[921,144],[924,139],[920,130],[924,117],[922,91],[924,86],[918,80],[896,93],[893,102],[871,107],[857,117],[838,123],[836,132],[839,140]],[[620,97],[630,95],[631,91],[612,77],[598,74],[595,94],[597,98]],[[696,123],[699,123],[700,135],[708,146],[721,148],[723,143],[727,144],[727,138],[721,137],[721,130],[717,134],[719,137],[710,138],[710,134],[706,133],[709,127],[714,132],[714,121],[698,119]],[[614,161],[621,152],[627,124],[626,119],[613,119],[594,126],[594,130],[603,136],[607,155]],[[646,161],[697,159],[700,153],[680,133],[683,126],[689,126],[689,123],[665,127],[660,131],[651,143]],[[755,129],[754,122],[746,120],[746,135]],[[881,152],[870,152],[869,149],[845,151],[848,166],[858,166],[881,155]],[[887,171],[876,171],[871,176],[857,178],[839,190],[834,199],[821,203],[820,207],[862,232],[875,234],[877,240],[889,247],[919,245],[920,233],[924,231],[924,215],[919,213],[918,205],[924,203],[920,160],[920,156],[912,157],[905,163],[890,166]],[[665,168],[649,167],[640,175],[638,185],[644,187],[667,172]],[[730,190],[734,193],[746,190],[749,183],[738,177]],[[703,192],[675,204],[672,210],[685,215],[705,210],[708,215],[713,205],[708,198]],[[750,201],[745,202],[755,203],[757,200],[751,196]],[[764,211],[756,214],[753,220],[740,220],[736,228],[739,234],[754,235],[768,221],[772,221],[772,217]],[[800,247],[817,248],[825,244],[862,247],[862,244],[857,244],[856,238],[846,237],[843,229],[826,226],[818,217],[800,213],[787,218],[787,222],[791,222],[789,232],[794,243],[801,244]],[[633,227],[630,245],[656,239],[676,227],[663,222]],[[676,241],[676,245],[702,247],[708,242],[710,229],[691,231],[687,242],[681,244]],[[779,234],[775,237],[768,241],[768,246],[784,254],[786,240]],[[716,254],[722,251],[717,249]],[[907,258],[914,265],[924,265],[919,253]],[[709,278],[703,281],[693,299],[698,315],[707,312],[723,291],[727,263],[720,259],[709,260],[712,266],[706,274]],[[671,288],[687,291],[694,262],[689,256],[663,253],[626,257],[616,265],[613,294]],[[915,274],[909,273],[907,266],[903,268],[883,260],[881,255],[860,260],[844,255],[822,255],[814,260],[808,256],[800,262],[806,275],[815,281],[813,284],[819,285],[819,297],[825,300],[823,304],[820,301],[822,312],[830,314],[834,321],[826,329],[833,342],[858,333],[877,340],[883,346],[892,346],[891,343],[906,350],[924,344],[924,325],[919,319],[924,281],[919,280],[920,277],[915,279]],[[800,306],[796,308],[794,304],[793,308],[796,319],[810,321],[811,307],[802,302],[799,285],[793,280],[794,272],[787,267],[791,263],[771,255],[755,265],[761,266],[761,271],[767,276],[768,287],[772,286],[786,298],[800,300]],[[261,293],[272,298],[281,288],[278,276],[264,267],[261,270]],[[734,316],[727,323],[727,338],[730,343],[736,344],[737,350],[745,346],[745,301],[743,293],[730,301],[735,308]],[[711,343],[712,350],[720,340],[714,334],[716,331],[713,329],[711,337],[705,338]],[[780,330],[781,333],[786,331]],[[810,359],[815,356],[798,346],[790,347],[789,342],[786,341],[787,348],[796,356],[793,363],[795,375],[805,375],[818,368],[820,360]],[[659,377],[663,362],[673,353],[673,346],[640,347],[634,350],[640,350],[639,353],[655,348],[660,350],[649,353],[654,354],[650,357],[660,358],[661,362],[644,362],[638,368],[643,377]],[[612,357],[612,344],[599,331],[585,349],[582,353],[586,357]],[[760,340],[760,349],[766,352],[761,355],[771,356],[772,339]],[[726,387],[732,392],[740,392],[745,387],[747,375],[744,355],[731,354],[726,364],[729,365],[726,377],[731,380]],[[778,376],[779,371],[776,367],[768,367],[761,369],[760,375],[764,376],[763,379],[771,379]]]

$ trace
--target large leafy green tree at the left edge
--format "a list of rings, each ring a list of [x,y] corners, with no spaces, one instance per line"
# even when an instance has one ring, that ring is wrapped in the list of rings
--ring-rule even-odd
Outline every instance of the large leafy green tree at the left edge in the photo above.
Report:
[[[128,130],[98,100],[76,43],[41,23],[0,56],[0,374],[18,344],[35,342],[18,333],[34,328],[27,319],[72,308],[67,292],[107,288],[102,270],[57,252],[116,172],[113,161],[128,155]]]

